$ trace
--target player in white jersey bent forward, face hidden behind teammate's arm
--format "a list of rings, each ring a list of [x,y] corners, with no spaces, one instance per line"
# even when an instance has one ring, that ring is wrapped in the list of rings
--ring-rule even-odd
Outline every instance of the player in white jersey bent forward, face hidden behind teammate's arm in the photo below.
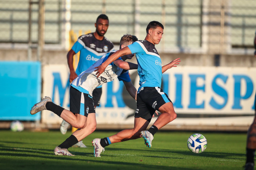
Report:
[[[137,40],[137,37],[134,35],[124,35],[120,40],[120,48],[124,48]],[[93,100],[93,90],[96,87],[110,82],[114,78],[118,78],[119,81],[124,82],[126,90],[136,100],[137,90],[132,84],[128,70],[137,69],[138,65],[123,61],[132,59],[133,55],[123,56],[122,59],[120,57],[110,63],[99,78],[97,78],[96,72],[94,72],[94,67],[99,66],[113,53],[104,54],[96,63],[72,81],[70,85],[70,111],[54,104],[49,97],[44,98],[31,108],[30,113],[32,115],[47,109],[60,116],[73,127],[80,128],[72,133],[66,141],[56,147],[54,154],[73,156],[68,151],[68,148],[78,143],[78,141],[82,141],[82,139],[96,129],[96,114]]]

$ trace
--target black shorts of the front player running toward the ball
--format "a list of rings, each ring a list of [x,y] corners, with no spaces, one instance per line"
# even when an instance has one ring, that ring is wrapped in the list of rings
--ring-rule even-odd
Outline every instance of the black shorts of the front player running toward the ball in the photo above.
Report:
[[[150,122],[155,111],[168,102],[172,101],[160,87],[142,87],[137,92],[137,109],[134,117],[141,117]]]

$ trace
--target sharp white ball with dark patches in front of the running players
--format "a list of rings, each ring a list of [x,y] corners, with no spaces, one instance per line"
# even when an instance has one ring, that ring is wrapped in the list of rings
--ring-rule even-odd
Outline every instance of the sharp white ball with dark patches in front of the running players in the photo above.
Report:
[[[188,149],[194,153],[202,153],[207,147],[204,135],[195,133],[188,138]]]

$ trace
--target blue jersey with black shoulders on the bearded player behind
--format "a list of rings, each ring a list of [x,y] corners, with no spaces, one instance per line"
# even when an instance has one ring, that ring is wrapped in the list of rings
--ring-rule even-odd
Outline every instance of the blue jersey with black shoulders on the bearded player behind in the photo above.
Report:
[[[98,61],[104,53],[113,51],[114,45],[106,37],[103,40],[98,40],[93,33],[88,33],[78,38],[72,50],[75,53],[80,51],[80,59],[76,68],[76,74],[79,75]]]

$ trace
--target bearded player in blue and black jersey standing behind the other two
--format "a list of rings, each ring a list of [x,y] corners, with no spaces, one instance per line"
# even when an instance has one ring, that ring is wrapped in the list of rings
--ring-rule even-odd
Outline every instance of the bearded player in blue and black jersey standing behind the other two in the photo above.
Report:
[[[87,70],[92,64],[102,57],[106,52],[113,51],[114,45],[106,37],[105,33],[108,30],[109,20],[108,16],[101,14],[98,16],[96,23],[94,24],[96,31],[94,33],[88,33],[78,37],[76,43],[74,43],[72,49],[68,51],[67,59],[70,69],[69,80],[72,82],[81,72]],[[80,51],[80,59],[76,71],[73,67],[73,56]],[[102,86],[96,88],[93,92],[94,106],[100,105],[100,96],[102,94]],[[66,121],[62,121],[60,131],[62,134],[67,132],[69,124]],[[76,147],[86,147],[82,141],[74,145]]]

